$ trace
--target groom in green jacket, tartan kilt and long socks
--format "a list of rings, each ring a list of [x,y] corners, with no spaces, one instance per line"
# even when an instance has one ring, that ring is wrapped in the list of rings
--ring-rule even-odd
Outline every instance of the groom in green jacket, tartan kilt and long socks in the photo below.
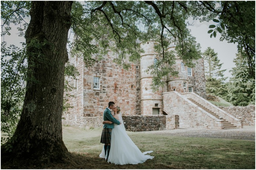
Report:
[[[115,108],[115,103],[114,102],[109,102],[108,103],[108,108],[106,108],[104,110],[103,113],[103,120],[109,120],[111,122],[113,122],[112,124],[104,124],[103,129],[102,129],[102,134],[101,134],[101,139],[100,139],[100,143],[104,144],[104,151],[105,151],[105,156],[106,156],[106,152],[108,151],[107,154],[107,159],[106,161],[108,161],[108,156],[109,156],[109,151],[110,151],[110,141],[111,141],[111,131],[114,128],[114,123],[117,125],[120,125],[121,123],[112,116],[111,114],[111,110],[113,110]]]

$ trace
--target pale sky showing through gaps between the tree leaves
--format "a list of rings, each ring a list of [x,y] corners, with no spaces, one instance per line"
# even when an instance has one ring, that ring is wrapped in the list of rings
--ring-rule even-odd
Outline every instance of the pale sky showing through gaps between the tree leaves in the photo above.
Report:
[[[190,23],[191,24],[191,23]],[[233,59],[235,54],[237,53],[237,45],[234,43],[227,43],[225,40],[221,42],[220,33],[217,33],[216,38],[210,38],[210,34],[207,31],[210,29],[209,25],[216,24],[214,22],[200,23],[199,21],[194,21],[192,26],[188,26],[191,29],[191,34],[196,37],[196,41],[201,45],[201,51],[207,47],[211,47],[215,52],[218,53],[218,58],[220,59],[220,63],[223,63],[222,69],[227,69],[224,72],[225,77],[231,77],[231,74],[228,72],[232,67],[235,67],[233,63]],[[19,46],[19,42],[25,42],[24,37],[18,37],[18,31],[16,30],[15,25],[12,25],[12,35],[6,35],[4,40],[8,42],[9,45],[14,44]],[[3,41],[3,37],[1,37],[1,42]]]

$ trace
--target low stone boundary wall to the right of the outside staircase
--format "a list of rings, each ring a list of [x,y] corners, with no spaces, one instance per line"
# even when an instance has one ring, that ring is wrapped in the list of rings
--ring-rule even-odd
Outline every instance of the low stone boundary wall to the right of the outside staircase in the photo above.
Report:
[[[219,107],[237,119],[243,120],[243,126],[255,126],[255,105]]]

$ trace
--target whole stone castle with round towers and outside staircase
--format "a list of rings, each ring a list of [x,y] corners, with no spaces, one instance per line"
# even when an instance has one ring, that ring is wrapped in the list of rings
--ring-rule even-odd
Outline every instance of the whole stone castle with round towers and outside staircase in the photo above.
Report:
[[[170,123],[167,120],[179,122],[179,127],[224,128],[225,121],[234,127],[242,127],[239,119],[204,99],[203,59],[197,60],[194,68],[189,68],[177,57],[173,68],[179,74],[163,77],[164,87],[153,93],[150,86],[152,75],[144,71],[158,60],[155,44],[154,41],[141,43],[145,52],[141,53],[138,63],[131,63],[129,70],[113,62],[115,55],[111,51],[89,68],[85,67],[83,59],[70,58],[69,61],[75,64],[80,75],[77,80],[71,80],[75,86],[71,93],[75,98],[71,98],[69,103],[74,108],[64,113],[63,124],[100,127],[103,111],[109,101],[114,101],[124,116],[166,115],[161,123],[165,124],[162,129],[166,129],[166,124]],[[168,48],[174,49],[175,45]]]

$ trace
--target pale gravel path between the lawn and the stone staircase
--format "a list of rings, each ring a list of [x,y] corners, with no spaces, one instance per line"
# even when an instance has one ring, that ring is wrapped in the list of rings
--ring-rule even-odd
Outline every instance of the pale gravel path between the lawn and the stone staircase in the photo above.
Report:
[[[255,141],[255,128],[238,128],[238,129],[173,129],[159,131],[144,131],[138,133],[156,133],[168,136],[185,136],[185,137],[205,137],[205,138],[223,138],[223,139],[242,139]]]

